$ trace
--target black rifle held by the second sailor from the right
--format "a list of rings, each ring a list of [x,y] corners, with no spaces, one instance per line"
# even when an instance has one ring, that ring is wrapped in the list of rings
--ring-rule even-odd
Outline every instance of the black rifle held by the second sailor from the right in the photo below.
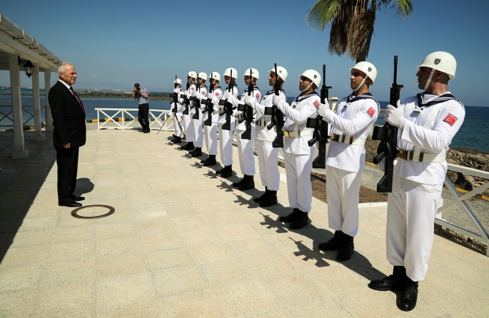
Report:
[[[321,103],[329,105],[329,89],[326,86],[326,65],[323,64],[323,86],[321,87]],[[322,117],[308,118],[307,128],[314,128],[313,138],[308,141],[309,147],[312,147],[316,141],[319,145],[319,154],[313,160],[313,168],[326,169],[326,143],[328,143],[328,123]]]

